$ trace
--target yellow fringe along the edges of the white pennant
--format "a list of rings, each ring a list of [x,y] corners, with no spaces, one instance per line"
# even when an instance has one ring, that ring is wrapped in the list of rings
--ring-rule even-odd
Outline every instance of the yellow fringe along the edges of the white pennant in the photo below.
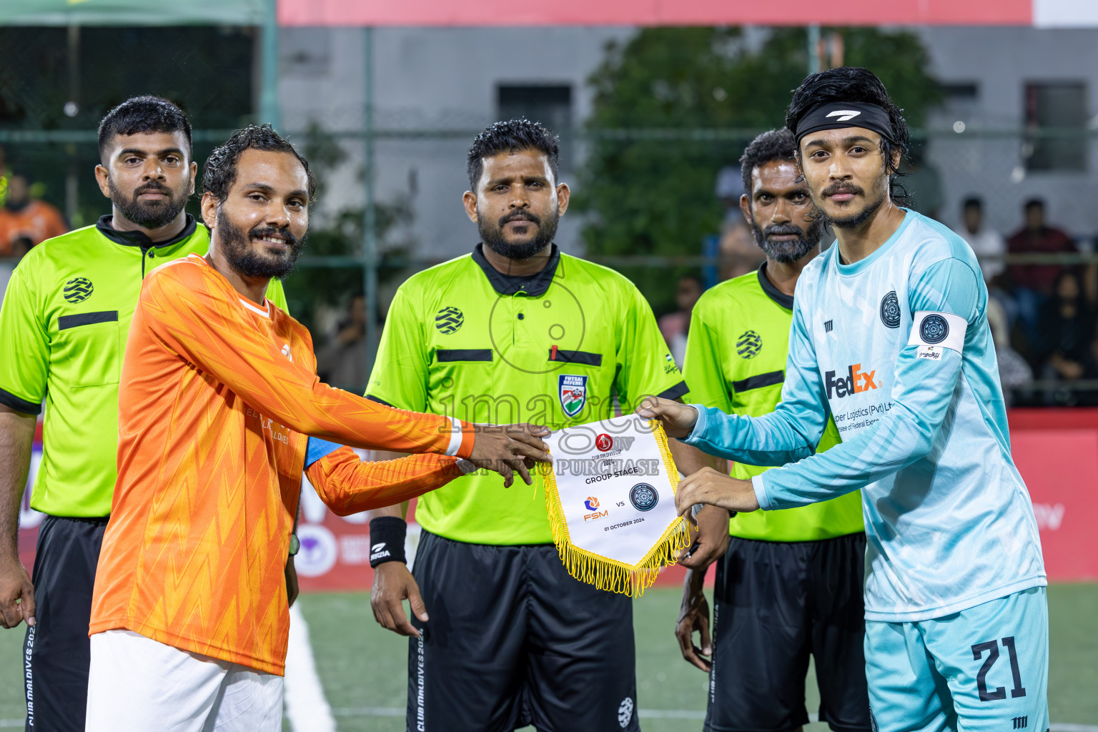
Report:
[[[668,448],[668,436],[663,425],[657,419],[650,419],[649,426],[656,437],[656,443],[663,457],[663,466],[668,471],[671,492],[679,492],[679,469]],[[664,566],[675,564],[679,552],[690,545],[690,528],[685,518],[671,522],[663,536],[645,559],[637,564],[626,564],[608,556],[581,549],[572,543],[568,533],[568,520],[564,518],[564,507],[561,505],[557,491],[557,478],[550,470],[546,473],[546,509],[549,511],[549,526],[552,529],[552,540],[564,568],[570,575],[594,585],[598,589],[612,593],[640,597],[652,586]]]

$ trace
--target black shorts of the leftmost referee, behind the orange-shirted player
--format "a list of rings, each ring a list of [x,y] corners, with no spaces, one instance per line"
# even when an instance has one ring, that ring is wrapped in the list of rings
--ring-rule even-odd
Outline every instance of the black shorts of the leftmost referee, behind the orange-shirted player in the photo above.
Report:
[[[34,628],[23,642],[26,731],[83,732],[91,593],[105,518],[46,516],[34,558]]]

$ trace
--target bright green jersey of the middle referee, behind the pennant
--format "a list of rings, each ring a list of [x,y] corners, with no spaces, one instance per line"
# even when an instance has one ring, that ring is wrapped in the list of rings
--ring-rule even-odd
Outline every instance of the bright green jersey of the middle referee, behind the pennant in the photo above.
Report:
[[[393,299],[367,396],[477,423],[559,429],[676,398],[686,384],[634,284],[552,247],[546,268],[508,277],[478,245],[410,278]],[[419,498],[428,531],[480,544],[552,542],[545,484],[509,489],[477,471]]]

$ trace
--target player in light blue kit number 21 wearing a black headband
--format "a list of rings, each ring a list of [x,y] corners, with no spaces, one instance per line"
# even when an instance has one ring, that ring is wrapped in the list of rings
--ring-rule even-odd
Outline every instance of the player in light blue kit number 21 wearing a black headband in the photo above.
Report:
[[[786,124],[838,243],[797,282],[782,403],[758,418],[665,399],[638,410],[705,452],[785,464],[751,481],[703,469],[680,484],[680,513],[861,488],[875,729],[1044,732],[1044,563],[1010,458],[979,264],[948,228],[897,205],[907,125],[873,74],[809,76]],[[843,441],[816,454],[828,416]]]

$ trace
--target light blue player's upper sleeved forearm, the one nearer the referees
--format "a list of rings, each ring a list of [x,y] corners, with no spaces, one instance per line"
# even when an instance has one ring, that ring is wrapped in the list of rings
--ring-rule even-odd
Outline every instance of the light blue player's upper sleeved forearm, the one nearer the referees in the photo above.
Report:
[[[747,465],[784,465],[807,458],[814,450],[782,409],[764,417],[747,417],[698,407],[694,430],[683,441]]]

